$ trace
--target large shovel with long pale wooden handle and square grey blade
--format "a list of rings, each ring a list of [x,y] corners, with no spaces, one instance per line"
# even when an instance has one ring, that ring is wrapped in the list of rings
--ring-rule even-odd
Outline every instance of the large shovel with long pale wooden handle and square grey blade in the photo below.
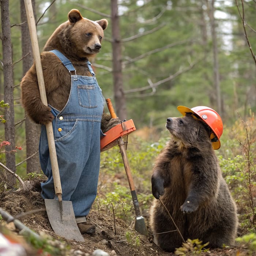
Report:
[[[44,76],[42,71],[42,64],[39,52],[39,46],[37,41],[37,31],[35,27],[35,19],[33,13],[33,7],[31,0],[24,0],[27,22],[29,25],[30,39],[33,49],[33,56],[35,61],[35,68],[37,71],[38,87],[40,91],[40,97],[44,105],[47,104],[47,98],[45,93]],[[47,139],[49,145],[50,161],[52,165],[52,175],[54,182],[55,194],[58,200],[55,199],[45,199],[45,207],[48,215],[50,225],[53,231],[68,240],[83,241],[84,238],[80,233],[78,226],[76,224],[75,214],[71,201],[62,201],[62,190],[60,183],[60,173],[59,166],[57,162],[56,148],[54,143],[53,128],[52,123],[45,125],[47,131]]]

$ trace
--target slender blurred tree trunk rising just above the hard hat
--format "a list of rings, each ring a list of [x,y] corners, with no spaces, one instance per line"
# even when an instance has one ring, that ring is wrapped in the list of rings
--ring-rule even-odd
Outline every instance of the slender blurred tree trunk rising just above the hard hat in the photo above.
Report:
[[[218,59],[218,44],[217,44],[217,35],[215,29],[215,18],[214,18],[214,2],[211,1],[210,7],[210,24],[211,24],[211,37],[212,37],[212,51],[213,51],[213,83],[215,88],[216,102],[217,102],[217,112],[220,116],[222,116],[222,106],[221,106],[221,89],[220,89],[220,81],[219,81],[219,59]]]

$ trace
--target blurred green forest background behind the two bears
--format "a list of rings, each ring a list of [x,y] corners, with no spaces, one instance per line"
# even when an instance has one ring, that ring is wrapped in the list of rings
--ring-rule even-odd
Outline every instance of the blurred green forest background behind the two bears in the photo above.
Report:
[[[1,0],[1,8],[4,2],[8,1]],[[40,173],[40,167],[39,127],[26,128],[29,121],[20,102],[19,83],[26,71],[24,65],[29,63],[26,58],[33,57],[31,50],[24,52],[23,48],[29,35],[24,38],[23,33],[22,38],[22,26],[26,26],[22,2],[9,1],[13,72],[9,89],[4,76],[6,38],[1,37],[0,100],[4,102],[0,107],[0,142],[12,142],[9,146],[1,144],[0,161],[26,178],[28,173]],[[35,0],[34,4],[41,50],[73,8],[91,20],[108,19],[101,52],[91,62],[103,95],[112,99],[118,117],[135,123],[137,131],[129,135],[128,153],[143,208],[147,210],[152,197],[154,158],[169,136],[166,118],[180,115],[178,105],[205,105],[217,110],[224,124],[222,146],[216,153],[242,216],[241,230],[246,230],[241,234],[255,232],[256,1]],[[3,13],[2,34],[6,27]],[[10,90],[13,110],[4,105],[11,103],[5,98]],[[11,123],[8,111],[14,112],[14,124],[7,133],[6,125]],[[9,155],[14,159],[6,160]],[[28,166],[32,159],[34,163]],[[118,148],[103,152],[101,161],[99,196],[94,207],[110,208],[109,203],[116,200],[122,204],[120,212],[124,212],[129,189],[120,182],[125,173]],[[15,178],[10,181],[4,169],[1,177],[5,188],[15,186]],[[130,200],[127,206],[132,209]]]

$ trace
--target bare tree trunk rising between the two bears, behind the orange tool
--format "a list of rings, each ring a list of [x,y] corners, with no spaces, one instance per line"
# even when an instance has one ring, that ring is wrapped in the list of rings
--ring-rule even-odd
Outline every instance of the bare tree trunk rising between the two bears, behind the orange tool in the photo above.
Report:
[[[127,118],[125,95],[123,89],[122,51],[117,0],[111,0],[113,81],[116,113],[120,120]]]

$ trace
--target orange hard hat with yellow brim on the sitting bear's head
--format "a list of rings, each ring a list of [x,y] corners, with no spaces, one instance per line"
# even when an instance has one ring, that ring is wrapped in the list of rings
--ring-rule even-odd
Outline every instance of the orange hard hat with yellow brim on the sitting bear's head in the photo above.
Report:
[[[185,106],[178,106],[177,109],[183,116],[185,116],[187,113],[191,113],[194,117],[199,117],[201,120],[203,120],[204,123],[206,123],[212,130],[210,135],[212,147],[214,149],[219,149],[221,147],[219,138],[221,138],[223,132],[223,123],[221,117],[214,109],[206,106],[197,106],[191,109]]]

